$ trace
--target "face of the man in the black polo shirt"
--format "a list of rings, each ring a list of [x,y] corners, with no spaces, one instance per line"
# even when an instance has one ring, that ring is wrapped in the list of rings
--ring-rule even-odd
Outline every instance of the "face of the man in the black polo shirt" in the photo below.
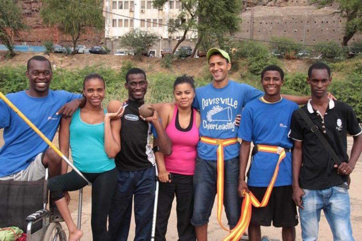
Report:
[[[332,83],[332,77],[329,76],[327,69],[312,69],[307,82],[311,86],[312,97],[322,98],[327,96],[327,89]]]

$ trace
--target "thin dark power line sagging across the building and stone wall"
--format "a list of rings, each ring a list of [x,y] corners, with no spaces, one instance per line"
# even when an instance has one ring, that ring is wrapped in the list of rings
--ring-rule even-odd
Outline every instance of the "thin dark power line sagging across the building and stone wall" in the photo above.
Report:
[[[171,25],[168,25],[168,24],[160,24],[160,23],[157,23],[157,22],[147,21],[146,19],[143,20],[143,19],[140,19],[140,18],[134,18],[134,17],[122,15],[122,14],[119,14],[119,13],[113,13],[113,12],[110,12],[110,11],[107,11],[107,10],[103,10],[103,9],[100,9],[100,8],[95,8],[95,7],[89,6],[87,4],[79,3],[79,2],[76,2],[76,1],[73,1],[73,0],[62,0],[62,1],[67,1],[67,2],[70,2],[70,3],[73,3],[73,4],[81,5],[81,6],[86,7],[86,8],[98,10],[98,11],[101,11],[101,12],[113,14],[113,15],[120,16],[120,17],[125,17],[125,18],[129,18],[129,19],[133,19],[133,20],[139,20],[139,21],[142,21],[142,22],[149,22],[151,24],[157,24],[157,25],[161,25],[161,26],[167,26],[169,28],[174,27],[174,26],[171,26]],[[310,44],[302,44],[302,43],[286,43],[286,42],[276,42],[276,41],[268,41],[268,40],[262,40],[262,39],[250,39],[250,38],[242,38],[242,37],[236,37],[236,36],[231,36],[231,35],[220,35],[220,34],[216,34],[216,33],[210,33],[210,32],[201,31],[201,30],[197,30],[197,29],[187,29],[187,28],[182,28],[182,27],[178,27],[178,29],[192,31],[192,32],[196,32],[196,33],[203,33],[203,34],[206,34],[206,35],[214,35],[216,37],[233,38],[233,39],[239,39],[239,40],[256,41],[256,42],[264,42],[264,43],[275,43],[275,44],[285,44],[285,45],[300,45],[300,46],[308,46],[308,47],[330,47],[330,48],[346,48],[346,49],[351,48],[350,46],[310,45]],[[352,48],[362,49],[362,47],[352,47]]]

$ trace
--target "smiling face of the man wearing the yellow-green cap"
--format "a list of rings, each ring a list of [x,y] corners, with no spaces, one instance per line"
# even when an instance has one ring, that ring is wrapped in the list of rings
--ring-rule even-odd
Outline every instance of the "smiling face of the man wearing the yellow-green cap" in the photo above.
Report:
[[[209,71],[212,79],[216,82],[227,80],[227,73],[231,68],[231,63],[227,63],[221,54],[211,55],[209,58]]]

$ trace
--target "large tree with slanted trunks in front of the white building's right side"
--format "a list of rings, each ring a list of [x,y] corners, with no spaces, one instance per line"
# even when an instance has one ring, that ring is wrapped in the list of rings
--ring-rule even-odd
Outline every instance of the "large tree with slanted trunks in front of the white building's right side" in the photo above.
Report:
[[[157,7],[169,0],[153,0]],[[222,35],[235,34],[239,30],[239,13],[242,0],[180,0],[180,13],[176,21],[168,22],[169,32],[183,30],[173,52],[185,40],[188,31],[197,30],[198,38],[191,54],[193,57],[198,46],[211,46],[218,43],[221,47],[225,39]],[[205,49],[207,50],[207,49]]]

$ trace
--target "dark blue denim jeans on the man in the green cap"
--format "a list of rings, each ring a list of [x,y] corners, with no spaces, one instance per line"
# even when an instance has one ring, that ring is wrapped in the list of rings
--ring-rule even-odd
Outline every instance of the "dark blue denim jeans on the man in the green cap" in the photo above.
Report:
[[[216,161],[196,158],[194,174],[194,212],[191,224],[201,226],[209,222],[216,195]],[[236,226],[241,213],[241,201],[237,193],[239,183],[239,157],[224,160],[224,207],[228,225]],[[216,218],[216,217],[215,217]]]

